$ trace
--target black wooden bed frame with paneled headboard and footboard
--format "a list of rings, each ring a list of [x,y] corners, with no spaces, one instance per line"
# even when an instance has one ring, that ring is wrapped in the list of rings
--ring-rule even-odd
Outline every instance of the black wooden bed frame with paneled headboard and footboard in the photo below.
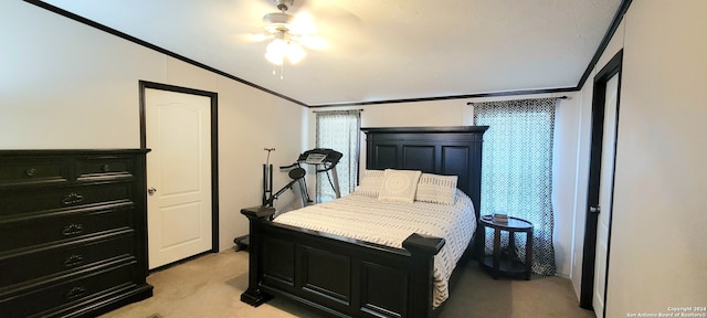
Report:
[[[487,128],[361,128],[367,135],[366,169],[458,176],[457,188],[473,200],[478,220]],[[277,224],[270,221],[274,212],[262,206],[241,211],[251,232],[249,287],[242,301],[258,306],[282,296],[335,317],[439,314],[432,306],[433,257],[444,246],[443,239],[412,234],[404,248],[394,248]],[[472,239],[472,254],[479,255],[482,240]]]

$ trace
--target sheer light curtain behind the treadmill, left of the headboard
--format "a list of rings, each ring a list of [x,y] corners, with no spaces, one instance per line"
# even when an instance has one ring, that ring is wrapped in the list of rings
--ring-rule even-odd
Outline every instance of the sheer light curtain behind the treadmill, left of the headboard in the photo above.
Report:
[[[358,176],[358,145],[361,127],[361,110],[317,112],[316,147],[329,148],[344,156],[336,166],[341,195],[348,194],[356,188]],[[317,202],[325,202],[336,198],[327,173],[317,174]]]

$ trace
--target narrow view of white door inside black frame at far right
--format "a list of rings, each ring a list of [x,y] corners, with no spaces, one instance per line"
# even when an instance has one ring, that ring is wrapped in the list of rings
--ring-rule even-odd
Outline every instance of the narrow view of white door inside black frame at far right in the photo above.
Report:
[[[594,259],[594,296],[592,306],[598,318],[603,318],[606,293],[606,259],[609,257],[609,231],[614,179],[614,155],[616,145],[616,102],[619,75],[606,82],[604,100],[604,132],[601,150],[601,181],[599,184],[599,222],[597,224],[597,258]]]

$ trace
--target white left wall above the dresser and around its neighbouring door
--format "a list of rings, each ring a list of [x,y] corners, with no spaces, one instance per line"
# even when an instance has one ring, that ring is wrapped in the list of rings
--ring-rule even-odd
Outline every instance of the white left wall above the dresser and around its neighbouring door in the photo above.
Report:
[[[260,204],[263,148],[302,152],[304,107],[39,7],[0,1],[0,149],[139,148],[138,81],[217,92],[221,250]]]

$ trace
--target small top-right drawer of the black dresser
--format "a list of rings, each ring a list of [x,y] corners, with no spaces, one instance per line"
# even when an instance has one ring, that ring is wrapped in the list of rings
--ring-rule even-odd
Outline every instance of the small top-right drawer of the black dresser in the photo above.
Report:
[[[131,177],[134,162],[129,157],[91,157],[76,159],[78,180],[96,178]]]

